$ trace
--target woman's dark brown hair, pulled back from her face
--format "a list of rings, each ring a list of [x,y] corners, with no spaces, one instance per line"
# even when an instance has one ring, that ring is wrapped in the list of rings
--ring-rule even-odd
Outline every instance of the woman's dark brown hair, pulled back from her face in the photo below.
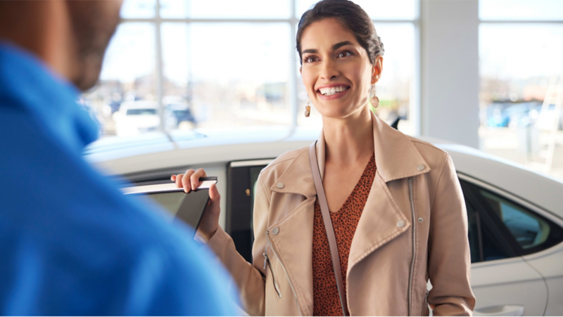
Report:
[[[305,11],[301,15],[301,20],[299,20],[296,48],[299,53],[300,63],[303,63],[303,57],[301,56],[301,37],[303,32],[313,22],[326,18],[336,18],[336,20],[342,23],[343,27],[354,34],[358,43],[367,51],[367,57],[372,65],[375,63],[377,56],[383,56],[385,50],[383,43],[381,43],[381,38],[377,36],[374,23],[364,9],[348,0],[322,0],[317,2],[308,11]]]

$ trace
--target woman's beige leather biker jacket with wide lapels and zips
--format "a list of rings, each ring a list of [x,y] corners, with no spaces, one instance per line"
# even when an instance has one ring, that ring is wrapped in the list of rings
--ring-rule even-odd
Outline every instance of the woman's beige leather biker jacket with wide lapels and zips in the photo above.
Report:
[[[377,174],[350,247],[350,314],[427,316],[429,304],[435,316],[471,315],[467,213],[450,156],[373,115],[372,122]],[[322,175],[322,134],[317,160]],[[312,315],[317,194],[308,147],[265,167],[256,191],[253,264],[222,229],[208,245],[232,273],[249,314]]]

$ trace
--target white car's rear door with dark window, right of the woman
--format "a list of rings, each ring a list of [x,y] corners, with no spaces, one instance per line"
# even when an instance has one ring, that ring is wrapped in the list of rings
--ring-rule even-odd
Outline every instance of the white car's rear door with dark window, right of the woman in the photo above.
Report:
[[[562,229],[502,190],[460,174],[467,205],[476,316],[543,316],[548,287],[524,255],[557,245]]]

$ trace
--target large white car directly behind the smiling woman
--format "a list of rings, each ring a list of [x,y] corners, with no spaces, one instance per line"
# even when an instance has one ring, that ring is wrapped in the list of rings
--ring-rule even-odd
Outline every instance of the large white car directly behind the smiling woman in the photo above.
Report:
[[[220,224],[251,261],[253,185],[260,170],[281,153],[310,145],[318,134],[272,127],[173,131],[102,139],[85,156],[132,186],[173,188],[170,175],[187,168],[218,176]],[[474,314],[562,316],[563,183],[473,148],[422,139],[450,153],[464,191]]]

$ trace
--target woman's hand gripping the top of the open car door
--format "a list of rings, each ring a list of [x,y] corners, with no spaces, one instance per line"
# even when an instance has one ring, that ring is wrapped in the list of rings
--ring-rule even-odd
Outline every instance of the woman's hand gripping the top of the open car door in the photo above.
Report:
[[[198,188],[200,185],[199,178],[207,176],[203,169],[198,169],[194,171],[193,169],[188,169],[184,174],[177,174],[170,176],[170,180],[176,182],[177,188],[184,188],[184,192],[189,193],[192,189]],[[219,214],[221,212],[219,202],[221,200],[221,195],[219,195],[219,190],[215,184],[211,185],[209,188],[209,202],[203,212],[201,221],[198,226],[197,234],[201,235],[205,240],[209,240],[219,228]]]

